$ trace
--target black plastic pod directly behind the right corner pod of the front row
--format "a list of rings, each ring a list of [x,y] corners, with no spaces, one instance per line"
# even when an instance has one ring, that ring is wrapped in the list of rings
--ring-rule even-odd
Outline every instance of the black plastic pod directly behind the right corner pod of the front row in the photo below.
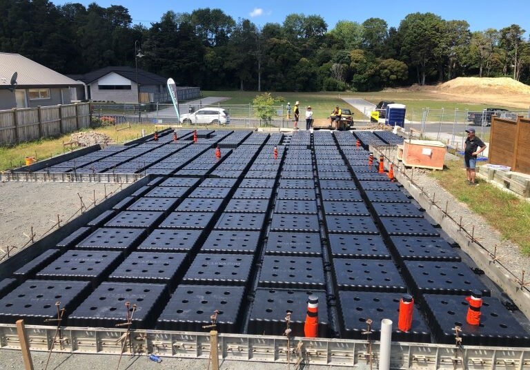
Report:
[[[466,295],[490,291],[464,262],[405,261],[403,276],[411,288],[422,294]]]

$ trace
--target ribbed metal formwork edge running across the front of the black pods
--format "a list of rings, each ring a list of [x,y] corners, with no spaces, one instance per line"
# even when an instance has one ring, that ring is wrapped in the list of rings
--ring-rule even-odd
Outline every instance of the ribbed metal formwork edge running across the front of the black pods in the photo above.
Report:
[[[49,351],[55,338],[55,327],[27,326],[26,335],[32,351]],[[124,329],[77,328],[61,329],[61,338],[56,338],[54,352],[63,353],[121,353],[117,339]],[[186,331],[141,331],[131,330],[132,348],[135,354],[173,358],[209,358],[210,334]],[[251,362],[287,362],[297,360],[296,351],[302,342],[304,358],[311,364],[335,365],[338,367],[369,366],[369,360],[377,363],[380,342],[372,342],[371,355],[367,352],[365,340],[341,340],[325,338],[286,338],[274,335],[219,334],[219,353],[224,360]],[[62,343],[62,344],[61,344]],[[126,349],[129,347],[126,346]],[[0,349],[20,349],[15,324],[0,324]],[[528,369],[530,350],[511,347],[464,347],[463,357],[455,355],[455,347],[450,344],[430,343],[391,343],[391,367],[393,369],[454,369],[455,360],[463,364],[480,362],[482,368]]]

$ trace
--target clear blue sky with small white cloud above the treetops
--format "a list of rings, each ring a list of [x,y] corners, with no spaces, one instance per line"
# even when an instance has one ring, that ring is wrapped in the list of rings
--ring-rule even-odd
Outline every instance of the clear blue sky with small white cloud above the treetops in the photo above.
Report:
[[[121,5],[129,10],[133,23],[143,23],[149,27],[150,23],[160,20],[162,14],[168,10],[174,12],[192,12],[199,8],[220,8],[225,14],[237,21],[239,18],[251,19],[253,23],[262,26],[268,22],[282,23],[286,15],[303,13],[305,15],[319,14],[328,23],[328,30],[335,27],[337,21],[357,21],[362,23],[371,17],[384,19],[389,26],[398,27],[406,14],[413,12],[433,12],[446,20],[466,20],[471,31],[487,28],[504,28],[513,23],[527,30],[529,35],[530,1],[528,0],[404,0],[404,1],[344,1],[333,0],[246,0],[246,1],[161,1],[161,0],[51,0],[55,5],[64,3],[82,3],[88,6],[95,2],[107,8],[110,5]]]

